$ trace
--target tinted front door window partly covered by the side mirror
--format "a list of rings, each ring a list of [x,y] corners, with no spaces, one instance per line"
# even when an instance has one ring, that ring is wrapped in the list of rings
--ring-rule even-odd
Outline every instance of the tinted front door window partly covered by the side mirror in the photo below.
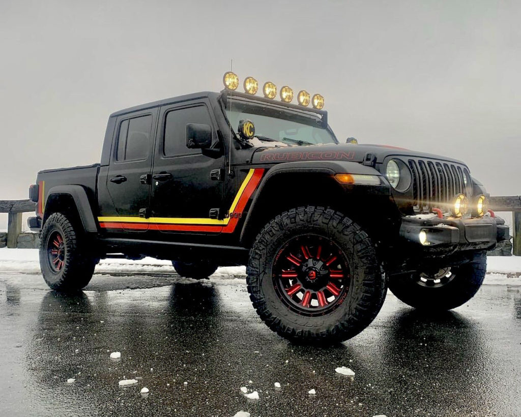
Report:
[[[197,154],[200,150],[187,148],[187,123],[212,125],[210,113],[205,106],[169,111],[166,115],[163,154],[165,157]]]

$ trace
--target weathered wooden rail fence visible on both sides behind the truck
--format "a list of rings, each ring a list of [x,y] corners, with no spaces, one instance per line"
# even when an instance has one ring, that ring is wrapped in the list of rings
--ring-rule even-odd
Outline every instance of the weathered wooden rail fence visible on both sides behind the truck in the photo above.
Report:
[[[34,212],[36,203],[30,200],[0,200],[0,213],[8,213],[7,247],[16,247],[22,230],[22,213]],[[513,254],[521,256],[521,196],[490,197],[490,209],[512,212],[514,229]]]

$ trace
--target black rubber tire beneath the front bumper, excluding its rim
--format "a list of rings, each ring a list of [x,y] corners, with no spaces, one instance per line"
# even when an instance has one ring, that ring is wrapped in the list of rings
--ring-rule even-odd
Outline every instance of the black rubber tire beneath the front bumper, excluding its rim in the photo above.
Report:
[[[454,278],[442,286],[420,285],[413,274],[393,276],[389,290],[405,304],[423,310],[443,311],[459,307],[478,292],[487,272],[487,253],[477,252],[468,263],[452,267]]]

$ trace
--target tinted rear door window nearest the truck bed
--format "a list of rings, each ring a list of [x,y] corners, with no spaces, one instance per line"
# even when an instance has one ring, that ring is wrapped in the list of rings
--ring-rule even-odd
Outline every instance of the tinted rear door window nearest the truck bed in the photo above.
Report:
[[[152,147],[152,115],[123,120],[119,125],[116,161],[145,160]]]

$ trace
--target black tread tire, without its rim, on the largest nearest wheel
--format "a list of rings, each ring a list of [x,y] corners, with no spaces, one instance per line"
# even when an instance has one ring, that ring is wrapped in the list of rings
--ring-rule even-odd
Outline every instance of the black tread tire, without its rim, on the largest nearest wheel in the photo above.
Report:
[[[283,245],[308,234],[334,242],[351,270],[343,302],[327,314],[312,317],[283,303],[272,273]],[[280,336],[300,344],[329,345],[355,336],[375,319],[387,292],[386,277],[366,232],[342,213],[324,207],[298,207],[270,220],[255,239],[246,272],[259,317]]]

